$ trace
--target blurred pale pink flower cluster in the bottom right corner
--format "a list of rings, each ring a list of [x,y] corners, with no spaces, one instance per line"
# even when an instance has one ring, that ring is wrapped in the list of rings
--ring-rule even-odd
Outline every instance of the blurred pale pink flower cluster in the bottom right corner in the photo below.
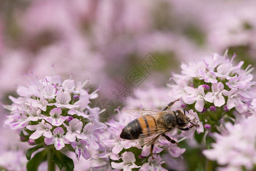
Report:
[[[237,124],[226,123],[222,134],[214,133],[213,149],[204,150],[209,160],[226,165],[220,170],[255,170],[256,117],[250,116]]]

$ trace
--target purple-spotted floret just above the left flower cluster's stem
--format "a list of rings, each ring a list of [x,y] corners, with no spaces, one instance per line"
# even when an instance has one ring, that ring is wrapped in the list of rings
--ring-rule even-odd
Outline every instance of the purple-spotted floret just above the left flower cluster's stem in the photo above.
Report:
[[[51,145],[54,144],[54,147],[56,150],[61,150],[65,144],[68,144],[68,141],[64,137],[64,130],[61,127],[57,127],[54,129],[52,132],[52,137],[51,138],[45,138],[44,143],[46,145]]]

